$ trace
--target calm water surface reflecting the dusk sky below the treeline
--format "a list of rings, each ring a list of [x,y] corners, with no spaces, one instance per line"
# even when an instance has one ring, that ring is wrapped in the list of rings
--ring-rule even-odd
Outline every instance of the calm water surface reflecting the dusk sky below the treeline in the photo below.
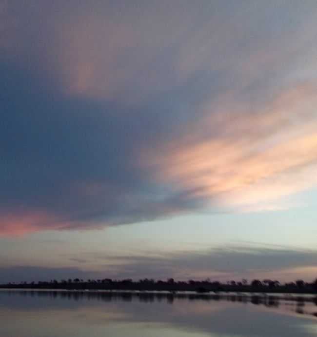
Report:
[[[0,291],[1,337],[317,337],[311,302]]]

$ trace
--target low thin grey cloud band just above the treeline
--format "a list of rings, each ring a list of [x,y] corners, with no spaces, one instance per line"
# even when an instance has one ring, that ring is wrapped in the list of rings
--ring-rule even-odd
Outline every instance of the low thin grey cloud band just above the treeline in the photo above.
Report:
[[[67,257],[64,258],[66,262]],[[221,281],[274,278],[283,282],[294,280],[298,275],[312,281],[317,273],[316,250],[250,244],[168,254],[139,252],[132,256],[88,252],[85,259],[69,256],[69,261],[74,267],[2,267],[0,282],[105,277]]]

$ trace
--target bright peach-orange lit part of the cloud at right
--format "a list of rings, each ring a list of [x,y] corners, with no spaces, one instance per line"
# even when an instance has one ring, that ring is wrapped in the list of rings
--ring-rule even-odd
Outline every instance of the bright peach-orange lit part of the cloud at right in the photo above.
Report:
[[[158,181],[176,184],[188,198],[240,210],[274,208],[271,203],[316,187],[316,90],[297,85],[259,111],[211,106],[216,110],[144,161],[156,168]]]

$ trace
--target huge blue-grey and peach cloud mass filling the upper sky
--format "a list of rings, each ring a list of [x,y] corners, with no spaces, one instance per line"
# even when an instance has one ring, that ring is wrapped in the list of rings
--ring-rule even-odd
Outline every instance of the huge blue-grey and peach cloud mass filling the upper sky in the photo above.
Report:
[[[314,2],[0,4],[1,235],[316,186]]]

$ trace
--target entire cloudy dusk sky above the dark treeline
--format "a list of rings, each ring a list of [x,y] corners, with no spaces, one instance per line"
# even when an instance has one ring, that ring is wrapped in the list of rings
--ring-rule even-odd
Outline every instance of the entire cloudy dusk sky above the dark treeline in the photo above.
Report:
[[[0,0],[0,282],[317,277],[315,0]]]

